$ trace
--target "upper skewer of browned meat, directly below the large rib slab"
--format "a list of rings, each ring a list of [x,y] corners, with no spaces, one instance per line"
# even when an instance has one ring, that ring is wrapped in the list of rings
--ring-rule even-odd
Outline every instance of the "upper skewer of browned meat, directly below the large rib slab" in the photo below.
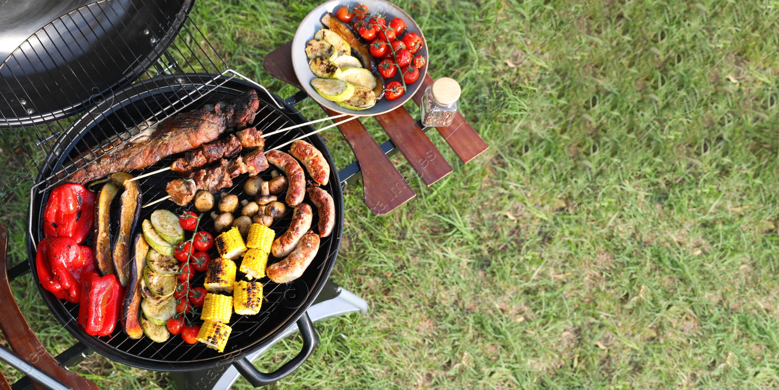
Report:
[[[196,168],[203,167],[224,157],[237,156],[243,148],[263,149],[264,146],[263,132],[257,131],[256,128],[245,128],[238,132],[238,136],[231,134],[227,136],[227,139],[206,143],[197,150],[185,153],[183,157],[178,158],[171,164],[171,170],[182,176],[188,176]]]

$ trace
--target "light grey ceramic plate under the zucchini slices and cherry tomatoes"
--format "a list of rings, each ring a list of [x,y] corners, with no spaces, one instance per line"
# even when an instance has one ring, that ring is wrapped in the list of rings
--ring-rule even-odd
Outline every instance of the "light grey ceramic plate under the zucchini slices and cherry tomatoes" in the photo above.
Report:
[[[411,19],[411,16],[408,16],[408,14],[404,12],[404,10],[398,8],[397,5],[386,2],[384,0],[362,0],[360,2],[333,0],[326,2],[323,5],[319,5],[312,12],[309,12],[300,23],[300,26],[298,26],[298,31],[295,32],[294,39],[292,40],[292,65],[294,67],[295,75],[298,76],[298,81],[300,81],[301,86],[303,86],[305,92],[307,92],[308,96],[312,97],[312,99],[316,100],[319,104],[322,104],[324,107],[330,108],[331,110],[340,114],[370,117],[373,115],[384,114],[386,112],[393,111],[397,107],[400,107],[406,103],[407,100],[411,99],[411,97],[414,96],[414,93],[417,93],[417,90],[419,90],[419,86],[421,86],[422,80],[425,79],[425,75],[428,72],[428,63],[425,62],[425,66],[423,66],[422,69],[419,69],[419,79],[417,79],[417,81],[414,83],[408,84],[406,86],[407,91],[403,94],[402,97],[400,97],[400,99],[387,100],[386,97],[382,97],[379,99],[379,101],[376,102],[375,106],[368,108],[367,110],[348,110],[320,96],[319,93],[317,93],[316,90],[314,90],[314,88],[311,86],[311,80],[315,79],[316,76],[314,76],[314,74],[311,72],[311,69],[308,69],[308,57],[305,55],[305,44],[308,42],[308,40],[314,39],[314,34],[319,29],[327,28],[322,24],[321,21],[322,16],[324,16],[327,12],[331,12],[333,15],[335,15],[335,12],[337,12],[338,9],[344,5],[350,8],[354,8],[354,6],[360,4],[365,4],[368,6],[368,12],[370,12],[372,15],[375,15],[376,13],[382,13],[384,15],[384,19],[386,19],[387,24],[390,24],[390,20],[395,18],[403,19],[403,21],[406,23],[406,32],[404,33],[418,33],[419,36],[422,37],[422,48],[420,51],[417,51],[417,53],[414,54],[414,57],[422,55],[425,58],[428,58],[428,43],[425,39],[425,35],[419,29],[417,23],[414,22],[414,19]],[[363,43],[365,44],[365,42]],[[368,44],[365,44],[365,46],[367,47]],[[355,55],[355,57],[359,58],[358,55]],[[371,69],[371,71],[375,71],[375,69]],[[400,69],[398,69],[397,73],[400,75]],[[375,74],[378,75],[378,73]],[[383,83],[386,85],[386,83],[396,79],[399,79],[398,76],[394,76],[389,80],[384,80]]]

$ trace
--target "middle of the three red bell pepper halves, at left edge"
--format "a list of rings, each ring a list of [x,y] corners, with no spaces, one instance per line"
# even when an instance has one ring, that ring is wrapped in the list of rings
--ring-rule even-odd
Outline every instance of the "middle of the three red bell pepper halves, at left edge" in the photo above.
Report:
[[[85,251],[86,249],[86,251]],[[80,274],[94,260],[90,248],[71,237],[46,237],[38,243],[35,265],[44,289],[74,304],[81,300]]]

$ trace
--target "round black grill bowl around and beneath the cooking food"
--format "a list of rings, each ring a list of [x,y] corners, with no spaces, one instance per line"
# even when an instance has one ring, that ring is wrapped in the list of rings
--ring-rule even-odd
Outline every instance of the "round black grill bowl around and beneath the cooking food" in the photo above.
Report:
[[[212,76],[194,75],[189,75],[188,79],[198,79],[198,77],[203,81],[213,79]],[[185,91],[191,91],[197,86],[203,86],[199,83],[181,83],[178,86],[171,87],[168,84],[172,84],[168,76],[146,80],[143,83],[136,84],[134,90],[147,92],[136,94],[132,93],[133,90],[129,90],[126,94],[120,94],[118,99],[113,102],[104,102],[104,104],[94,107],[91,110],[94,111],[94,115],[90,115],[90,113],[83,115],[82,118],[94,118],[94,120],[79,120],[62,135],[58,140],[58,145],[52,149],[52,153],[47,157],[44,170],[41,171],[38,181],[40,182],[43,177],[47,177],[52,172],[59,170],[68,156],[75,158],[79,153],[94,146],[93,139],[103,141],[109,135],[115,135],[115,128],[123,129],[127,128],[128,125],[137,125],[140,121],[143,121],[143,118],[148,117],[152,111],[159,110],[160,107],[167,104],[172,97],[177,97]],[[206,93],[187,109],[200,108],[204,104],[215,104],[221,100],[229,101],[231,97],[238,96],[238,94],[253,88],[252,84],[231,79],[224,85],[217,87],[213,92]],[[273,124],[266,130],[266,132],[270,132],[273,129],[284,127],[284,125],[305,123],[305,118],[280,98],[276,97],[276,100],[284,106],[284,110],[279,110],[270,101],[270,97],[267,94],[258,93],[258,96],[260,99],[260,110],[255,122],[252,124],[256,125],[258,129],[263,128],[264,125]],[[284,122],[287,123],[284,124]],[[311,126],[305,126],[289,132],[272,135],[266,139],[266,150],[280,143],[296,139],[307,132],[312,132],[312,130]],[[330,237],[322,239],[316,257],[299,279],[285,284],[270,282],[267,277],[260,280],[264,285],[263,294],[266,297],[266,301],[263,302],[263,307],[259,314],[253,316],[233,314],[230,322],[233,331],[224,353],[217,353],[206,348],[202,343],[189,345],[184,343],[179,336],[171,336],[165,343],[153,343],[146,336],[138,340],[132,340],[125,335],[121,324],[117,324],[111,336],[94,337],[83,332],[76,322],[78,305],[58,300],[38,283],[35,265],[36,246],[34,244],[37,244],[44,237],[41,220],[49,192],[44,191],[44,193],[33,193],[33,199],[30,202],[30,220],[35,222],[33,222],[33,226],[30,229],[32,236],[27,237],[27,248],[33,278],[35,278],[38,290],[40,290],[41,296],[51,309],[51,312],[65,329],[68,329],[76,339],[89,346],[90,349],[111,360],[146,370],[192,371],[220,364],[230,364],[268,345],[284,329],[294,325],[301,318],[319,294],[319,291],[322,290],[335,264],[341,232],[344,227],[343,195],[333,158],[330,156],[330,152],[319,135],[310,136],[305,140],[319,149],[326,157],[328,163],[330,163],[330,182],[328,185],[323,186],[323,189],[328,191],[330,195],[333,195],[335,200],[336,227]],[[286,152],[288,146],[281,150]],[[174,157],[178,157],[178,155],[167,157],[154,166],[146,168],[146,171],[169,167]],[[272,170],[273,166],[271,166],[271,169],[266,170],[261,175],[263,179],[270,180]],[[139,172],[132,172],[132,174],[139,174]],[[143,204],[166,196],[167,193],[164,191],[165,184],[178,177],[171,170],[167,170],[166,172],[140,179],[139,184],[143,192]],[[249,195],[243,194],[243,184],[247,177],[244,174],[234,178],[233,187],[225,188],[223,191],[238,195],[238,198],[241,200],[250,199]],[[308,173],[306,173],[306,179],[310,179]],[[41,188],[44,188],[44,186]],[[280,195],[279,199],[284,199],[284,194]],[[305,202],[315,209],[308,197]],[[140,220],[149,219],[154,209],[169,209],[178,214],[185,209],[194,208],[192,203],[185,207],[178,207],[173,202],[164,201],[155,206],[141,209]],[[283,234],[289,227],[291,214],[291,208],[287,208],[285,216],[273,224],[272,228],[276,231],[277,237]],[[318,218],[316,213],[314,213],[312,227],[315,227],[317,222]],[[212,234],[216,233],[213,230],[213,220],[211,220],[210,216],[204,215],[200,223],[203,230],[210,231]],[[140,223],[137,223],[134,234],[139,231]],[[92,238],[88,238],[83,244],[91,245]],[[210,254],[212,257],[218,256],[215,249],[210,251]],[[269,264],[276,261],[278,259],[269,258]],[[236,263],[240,265],[240,259]],[[204,274],[205,272],[198,272],[198,275],[192,282],[192,286],[202,286]],[[241,279],[242,276],[241,272],[238,272],[237,279]],[[199,321],[199,314],[189,314],[189,318],[194,318],[196,323],[202,322]]]

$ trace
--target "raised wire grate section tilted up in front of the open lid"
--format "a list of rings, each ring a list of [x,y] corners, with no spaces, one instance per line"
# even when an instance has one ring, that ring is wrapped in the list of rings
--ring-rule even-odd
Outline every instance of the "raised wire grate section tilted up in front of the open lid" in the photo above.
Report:
[[[200,84],[151,111],[141,122],[148,124],[171,117],[235,77],[268,93],[263,86],[230,69],[220,58],[196,23],[187,17],[192,0],[164,3],[167,5],[132,0],[94,2],[58,17],[24,40],[0,65],[0,147],[18,149],[21,145],[29,156],[25,161],[17,153],[23,166],[32,166],[42,173],[44,157],[51,152],[62,153],[55,145],[75,141],[67,139],[65,129],[71,125],[88,126],[109,114],[86,111],[79,116],[76,112],[104,101],[115,102],[119,99],[117,87],[125,84],[136,96],[148,93],[143,84],[131,83],[136,80],[172,74],[178,77],[165,79],[168,86]],[[160,12],[164,6],[170,7],[167,13]],[[139,20],[139,15],[154,17]],[[137,51],[143,54],[132,55]],[[85,53],[97,55],[83,61]],[[106,69],[120,69],[118,81],[111,79],[116,74],[108,72],[107,76]],[[193,78],[193,74],[199,76]],[[203,75],[208,77],[203,79]],[[270,93],[268,96],[276,103]],[[63,103],[73,97],[86,97],[86,100]],[[144,103],[134,100],[131,104]],[[278,104],[277,107],[281,108]],[[100,139],[93,134],[84,135],[83,142],[90,144],[90,149],[69,156],[60,170],[47,172],[35,188],[47,191],[79,167],[111,153],[114,146],[139,133],[138,125],[122,124],[110,132],[104,129],[106,136]]]

